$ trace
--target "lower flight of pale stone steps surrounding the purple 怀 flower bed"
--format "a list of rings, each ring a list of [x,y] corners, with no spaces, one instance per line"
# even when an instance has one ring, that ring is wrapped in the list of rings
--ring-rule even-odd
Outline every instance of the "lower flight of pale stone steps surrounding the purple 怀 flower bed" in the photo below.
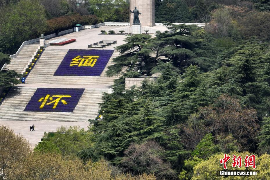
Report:
[[[99,110],[98,103],[102,102],[103,92],[108,92],[108,89],[85,89],[73,112],[24,111],[36,89],[13,87],[0,106],[1,120],[86,122],[89,119],[96,118]]]

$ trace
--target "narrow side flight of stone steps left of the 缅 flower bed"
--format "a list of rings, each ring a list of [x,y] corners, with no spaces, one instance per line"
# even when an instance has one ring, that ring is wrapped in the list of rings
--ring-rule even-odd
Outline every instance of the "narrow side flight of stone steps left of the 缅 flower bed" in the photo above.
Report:
[[[10,61],[10,64],[6,66],[7,69],[12,69],[19,74],[22,74],[28,61],[32,58],[34,53],[37,51],[39,44],[28,44],[24,45],[20,53]]]

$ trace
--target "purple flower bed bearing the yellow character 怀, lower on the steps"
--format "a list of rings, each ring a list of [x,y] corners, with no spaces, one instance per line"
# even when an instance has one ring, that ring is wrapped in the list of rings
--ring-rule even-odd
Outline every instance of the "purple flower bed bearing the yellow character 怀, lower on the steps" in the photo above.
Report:
[[[37,88],[24,111],[73,112],[84,89]]]

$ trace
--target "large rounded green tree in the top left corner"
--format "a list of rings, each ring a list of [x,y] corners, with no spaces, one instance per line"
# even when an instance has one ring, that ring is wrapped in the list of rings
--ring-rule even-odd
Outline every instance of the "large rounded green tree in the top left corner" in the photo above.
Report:
[[[36,38],[45,27],[44,7],[23,0],[0,9],[0,51],[13,54],[21,43]]]

